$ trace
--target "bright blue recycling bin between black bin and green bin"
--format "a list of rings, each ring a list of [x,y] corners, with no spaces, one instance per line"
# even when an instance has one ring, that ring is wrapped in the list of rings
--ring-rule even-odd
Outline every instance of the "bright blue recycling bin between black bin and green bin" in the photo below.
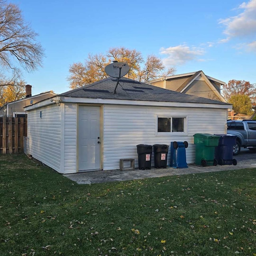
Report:
[[[171,160],[170,166],[173,168],[188,168],[186,162],[186,148],[188,142],[171,142]]]

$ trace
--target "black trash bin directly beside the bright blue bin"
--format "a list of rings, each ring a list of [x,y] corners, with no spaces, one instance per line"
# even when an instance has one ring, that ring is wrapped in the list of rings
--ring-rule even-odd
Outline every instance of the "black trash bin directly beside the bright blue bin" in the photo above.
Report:
[[[167,154],[169,146],[165,144],[153,145],[155,168],[167,167]]]

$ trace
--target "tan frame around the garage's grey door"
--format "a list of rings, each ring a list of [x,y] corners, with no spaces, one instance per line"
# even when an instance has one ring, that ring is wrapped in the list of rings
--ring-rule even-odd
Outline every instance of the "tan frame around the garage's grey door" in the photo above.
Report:
[[[104,105],[102,104],[76,104],[76,172],[78,171],[78,165],[79,165],[79,157],[78,157],[78,150],[79,150],[79,144],[78,144],[78,128],[79,128],[79,106],[91,106],[91,107],[100,107],[100,169],[96,170],[103,170],[103,110]],[[84,170],[82,172],[91,172],[96,170]],[[81,171],[80,171],[81,172]]]

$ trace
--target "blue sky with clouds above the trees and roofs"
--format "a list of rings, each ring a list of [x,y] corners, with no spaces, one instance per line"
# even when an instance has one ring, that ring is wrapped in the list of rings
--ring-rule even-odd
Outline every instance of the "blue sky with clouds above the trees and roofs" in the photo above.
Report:
[[[68,69],[110,47],[160,57],[176,74],[202,70],[256,83],[256,0],[9,0],[39,34],[43,68],[24,72],[32,94],[69,89]]]

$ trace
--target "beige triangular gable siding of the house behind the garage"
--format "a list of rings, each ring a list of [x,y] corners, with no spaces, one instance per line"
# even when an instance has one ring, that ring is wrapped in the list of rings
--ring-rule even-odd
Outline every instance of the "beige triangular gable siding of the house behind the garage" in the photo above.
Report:
[[[220,100],[218,96],[212,91],[210,86],[203,80],[194,80],[183,93],[208,98],[211,100]]]

